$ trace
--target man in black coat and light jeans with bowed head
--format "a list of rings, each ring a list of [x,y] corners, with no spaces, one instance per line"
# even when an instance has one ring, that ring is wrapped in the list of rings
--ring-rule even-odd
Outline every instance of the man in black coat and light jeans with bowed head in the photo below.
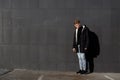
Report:
[[[73,38],[73,52],[77,53],[79,59],[79,67],[80,70],[78,73],[85,74],[86,71],[86,57],[85,53],[87,52],[88,45],[89,45],[89,36],[88,31],[89,29],[86,26],[82,26],[79,20],[74,21],[74,38]]]

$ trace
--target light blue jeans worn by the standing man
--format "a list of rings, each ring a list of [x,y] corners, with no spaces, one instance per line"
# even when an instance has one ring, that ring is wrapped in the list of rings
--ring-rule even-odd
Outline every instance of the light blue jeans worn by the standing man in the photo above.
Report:
[[[78,59],[79,59],[79,67],[80,70],[86,70],[86,58],[85,53],[80,52],[80,45],[78,45]]]

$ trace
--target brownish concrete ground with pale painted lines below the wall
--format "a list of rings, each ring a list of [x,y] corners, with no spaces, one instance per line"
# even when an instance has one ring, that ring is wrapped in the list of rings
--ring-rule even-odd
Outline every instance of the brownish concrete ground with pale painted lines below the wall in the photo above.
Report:
[[[0,80],[120,80],[120,73],[77,75],[75,72],[14,69],[12,72],[1,75]]]

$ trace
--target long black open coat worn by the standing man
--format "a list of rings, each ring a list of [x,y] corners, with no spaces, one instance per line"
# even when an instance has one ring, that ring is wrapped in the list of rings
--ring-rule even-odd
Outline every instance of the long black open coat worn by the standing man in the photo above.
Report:
[[[83,27],[83,26],[81,26]],[[74,37],[73,37],[73,48],[76,49],[76,52],[78,52],[78,45],[80,45],[80,52],[86,53],[87,50],[85,48],[88,48],[89,46],[89,29],[85,26],[80,30],[78,29],[78,35],[77,35],[77,43],[76,43],[76,31],[74,31]]]

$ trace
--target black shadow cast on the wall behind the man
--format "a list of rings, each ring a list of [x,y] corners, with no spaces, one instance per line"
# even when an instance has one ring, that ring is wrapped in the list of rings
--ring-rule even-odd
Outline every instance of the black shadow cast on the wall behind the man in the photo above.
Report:
[[[89,47],[86,53],[87,71],[94,72],[94,58],[100,54],[99,39],[95,32],[89,31]]]

